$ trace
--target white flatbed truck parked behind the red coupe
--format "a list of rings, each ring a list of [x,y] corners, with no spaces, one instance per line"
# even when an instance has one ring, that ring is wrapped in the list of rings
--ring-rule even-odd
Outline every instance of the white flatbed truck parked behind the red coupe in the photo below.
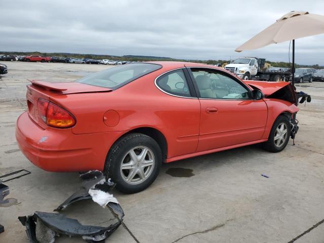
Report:
[[[236,74],[238,77],[248,80],[288,81],[291,71],[288,68],[264,68],[265,59],[257,57],[244,57],[227,64],[225,69]]]

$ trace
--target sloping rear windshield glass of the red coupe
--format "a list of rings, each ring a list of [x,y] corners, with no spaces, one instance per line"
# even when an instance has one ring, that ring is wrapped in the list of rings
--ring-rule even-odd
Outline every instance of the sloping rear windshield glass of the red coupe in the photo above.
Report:
[[[75,82],[115,90],[161,67],[151,63],[130,63],[96,72]]]

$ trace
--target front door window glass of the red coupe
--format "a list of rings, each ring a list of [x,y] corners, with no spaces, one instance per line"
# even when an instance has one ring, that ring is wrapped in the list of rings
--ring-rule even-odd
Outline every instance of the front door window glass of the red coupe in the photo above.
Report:
[[[191,68],[201,98],[209,99],[250,99],[250,92],[225,74],[211,69]]]

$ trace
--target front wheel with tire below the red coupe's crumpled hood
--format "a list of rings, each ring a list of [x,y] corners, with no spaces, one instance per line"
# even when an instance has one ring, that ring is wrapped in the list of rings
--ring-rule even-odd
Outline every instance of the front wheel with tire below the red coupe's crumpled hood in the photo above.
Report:
[[[268,141],[263,143],[263,148],[273,153],[284,150],[288,144],[291,127],[287,116],[279,115],[274,121]]]

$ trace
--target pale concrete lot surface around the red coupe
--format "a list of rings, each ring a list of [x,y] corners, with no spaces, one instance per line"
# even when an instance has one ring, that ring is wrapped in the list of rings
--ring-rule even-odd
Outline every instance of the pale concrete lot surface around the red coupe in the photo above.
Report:
[[[15,121],[26,109],[27,79],[72,81],[108,65],[4,62],[0,75],[0,175],[20,169],[30,175],[6,182],[12,203],[0,206],[5,232],[0,242],[27,242],[18,216],[51,212],[80,185],[77,173],[51,173],[33,166],[15,140]],[[114,191],[125,211],[124,222],[138,242],[289,242],[324,219],[324,83],[297,84],[312,95],[300,105],[300,130],[280,153],[253,145],[165,164],[157,180],[133,195]],[[180,169],[170,175],[170,169]],[[266,174],[269,178],[262,177]],[[101,212],[79,210],[91,222]],[[324,224],[296,242],[323,242]],[[56,242],[84,242],[57,238]],[[120,226],[107,242],[136,242]]]

